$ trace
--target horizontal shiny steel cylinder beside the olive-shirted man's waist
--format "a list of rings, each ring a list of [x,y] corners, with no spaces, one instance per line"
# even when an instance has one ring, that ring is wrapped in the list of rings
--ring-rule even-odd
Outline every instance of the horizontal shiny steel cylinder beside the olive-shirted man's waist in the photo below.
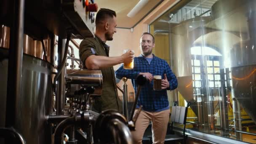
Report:
[[[93,86],[95,91],[91,95],[101,95],[103,79],[99,69],[67,69],[66,80],[67,84],[71,85]],[[71,94],[73,95],[74,91]]]

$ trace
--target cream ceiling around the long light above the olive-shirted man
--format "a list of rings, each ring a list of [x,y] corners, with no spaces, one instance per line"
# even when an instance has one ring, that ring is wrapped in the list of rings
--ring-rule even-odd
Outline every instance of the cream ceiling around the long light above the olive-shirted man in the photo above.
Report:
[[[109,8],[117,13],[117,27],[122,28],[134,27],[150,10],[162,1],[163,0],[149,0],[136,16],[130,18],[126,15],[139,3],[139,0],[95,0],[98,5],[98,10],[100,8]]]

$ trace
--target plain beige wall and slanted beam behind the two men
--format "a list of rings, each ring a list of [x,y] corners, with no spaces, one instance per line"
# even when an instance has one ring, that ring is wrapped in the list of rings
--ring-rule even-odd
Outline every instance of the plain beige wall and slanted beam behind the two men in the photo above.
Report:
[[[136,27],[133,28],[133,31],[131,31],[131,29],[117,28],[117,32],[114,34],[113,40],[107,41],[107,45],[110,46],[109,56],[120,56],[123,53],[123,50],[127,48],[133,50],[135,56],[139,56],[141,53],[139,48],[139,40],[143,32],[149,32],[148,24],[150,24],[160,15],[162,15],[165,11],[171,8],[171,6],[175,5],[175,3],[177,3],[178,1],[179,0],[164,1],[157,8],[155,8],[154,11],[152,11],[148,16],[146,16],[145,19],[143,19],[139,24],[137,24]],[[118,69],[118,67],[120,67],[120,64],[114,66],[114,69],[116,70]],[[118,85],[122,87],[123,81],[120,80]],[[127,81],[127,85],[128,93],[134,92],[131,80]],[[120,91],[118,91],[118,95],[120,97],[123,96],[123,94]]]

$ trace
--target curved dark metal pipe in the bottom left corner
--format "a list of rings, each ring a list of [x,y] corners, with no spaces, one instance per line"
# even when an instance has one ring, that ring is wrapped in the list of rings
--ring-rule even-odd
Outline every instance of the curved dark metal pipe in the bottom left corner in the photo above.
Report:
[[[13,137],[13,139],[16,139],[19,144],[26,144],[25,139],[21,136],[20,133],[15,131],[12,128],[0,128],[0,137],[6,138],[6,137]],[[15,142],[17,142],[15,141]]]

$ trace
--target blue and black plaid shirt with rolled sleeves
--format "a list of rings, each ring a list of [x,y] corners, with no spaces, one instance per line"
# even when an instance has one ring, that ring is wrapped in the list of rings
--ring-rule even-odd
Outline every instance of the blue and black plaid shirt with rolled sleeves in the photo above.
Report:
[[[116,77],[122,79],[122,77],[127,77],[131,79],[133,88],[136,92],[138,85],[136,84],[136,77],[140,72],[149,72],[152,75],[162,75],[166,74],[169,81],[170,87],[168,90],[174,90],[178,86],[176,76],[173,74],[168,63],[158,58],[153,54],[152,61],[149,62],[144,56],[134,58],[134,68],[133,69],[123,69],[123,65],[117,69],[115,72]],[[137,106],[143,106],[143,110],[149,112],[157,112],[169,106],[167,91],[154,91],[153,90],[153,80],[151,82],[147,81],[145,85],[141,87],[141,92]]]

